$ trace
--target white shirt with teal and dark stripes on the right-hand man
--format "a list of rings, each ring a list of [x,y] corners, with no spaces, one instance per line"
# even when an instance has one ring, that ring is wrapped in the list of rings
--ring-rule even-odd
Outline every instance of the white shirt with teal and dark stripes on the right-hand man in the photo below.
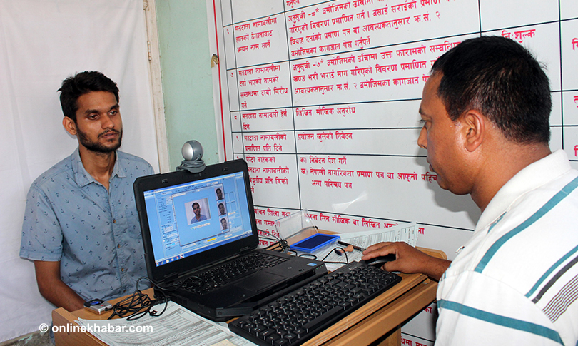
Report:
[[[517,173],[440,280],[436,345],[578,346],[578,171]]]

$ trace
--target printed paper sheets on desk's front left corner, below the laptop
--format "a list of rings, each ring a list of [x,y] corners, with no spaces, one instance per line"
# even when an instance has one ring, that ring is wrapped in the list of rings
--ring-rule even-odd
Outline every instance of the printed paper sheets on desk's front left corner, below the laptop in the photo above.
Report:
[[[156,308],[162,308],[158,306]],[[249,346],[255,345],[228,328],[203,318],[175,302],[168,302],[163,315],[138,320],[83,320],[78,325],[111,346]],[[152,331],[151,331],[152,330]]]

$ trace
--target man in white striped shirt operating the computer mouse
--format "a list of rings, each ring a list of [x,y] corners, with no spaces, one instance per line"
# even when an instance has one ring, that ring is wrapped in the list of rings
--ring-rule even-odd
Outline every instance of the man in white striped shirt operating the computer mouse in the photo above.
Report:
[[[578,171],[549,149],[549,82],[522,46],[463,41],[425,84],[417,141],[440,187],[482,210],[453,262],[405,243],[385,270],[440,280],[437,345],[578,345]]]

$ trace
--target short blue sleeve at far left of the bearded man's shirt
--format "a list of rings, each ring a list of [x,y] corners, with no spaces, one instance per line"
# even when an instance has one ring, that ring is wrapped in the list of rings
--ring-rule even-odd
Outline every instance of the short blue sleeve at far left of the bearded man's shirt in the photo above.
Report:
[[[59,220],[48,196],[37,186],[31,186],[26,196],[20,257],[59,261],[62,255],[62,238]]]

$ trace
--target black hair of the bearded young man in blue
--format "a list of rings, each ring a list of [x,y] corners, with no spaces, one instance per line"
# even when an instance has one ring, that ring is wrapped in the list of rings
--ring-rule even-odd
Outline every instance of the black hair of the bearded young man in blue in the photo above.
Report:
[[[76,111],[78,111],[78,98],[91,91],[108,91],[114,94],[118,103],[118,87],[110,78],[97,71],[84,71],[76,73],[62,81],[60,91],[60,105],[64,116],[71,118],[76,123]]]

